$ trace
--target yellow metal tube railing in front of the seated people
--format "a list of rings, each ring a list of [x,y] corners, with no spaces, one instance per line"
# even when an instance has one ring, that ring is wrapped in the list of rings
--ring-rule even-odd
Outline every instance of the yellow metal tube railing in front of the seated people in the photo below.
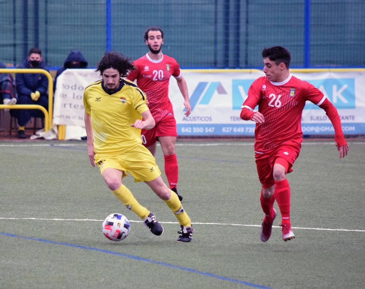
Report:
[[[43,113],[45,114],[45,131],[48,131],[52,127],[53,117],[53,79],[51,74],[49,74],[47,70],[39,68],[0,68],[0,73],[42,73],[48,78],[48,112],[44,107],[38,104],[0,104],[0,109],[41,109],[41,111],[43,111]]]

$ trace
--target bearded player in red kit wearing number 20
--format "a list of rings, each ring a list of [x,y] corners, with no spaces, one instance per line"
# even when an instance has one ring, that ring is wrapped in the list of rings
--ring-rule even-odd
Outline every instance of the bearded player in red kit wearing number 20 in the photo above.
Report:
[[[164,31],[158,27],[149,27],[144,38],[149,52],[133,62],[136,69],[130,72],[127,79],[130,81],[137,79],[138,87],[146,93],[148,107],[156,123],[152,130],[141,131],[142,143],[155,155],[156,141],[160,142],[170,189],[181,201],[183,197],[177,193],[178,165],[175,154],[177,128],[172,103],[169,99],[170,77],[176,78],[177,86],[184,97],[186,116],[191,113],[188,86],[176,60],[162,54]]]

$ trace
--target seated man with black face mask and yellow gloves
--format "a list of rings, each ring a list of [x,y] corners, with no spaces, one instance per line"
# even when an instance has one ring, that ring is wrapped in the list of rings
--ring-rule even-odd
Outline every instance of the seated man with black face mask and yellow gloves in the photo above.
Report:
[[[46,63],[42,59],[42,51],[36,47],[29,50],[26,58],[18,68],[38,68],[49,72]],[[42,73],[16,73],[16,90],[18,92],[18,104],[39,104],[48,110],[48,79]],[[26,138],[24,127],[31,117],[44,117],[39,109],[13,109],[12,116],[18,119],[18,138]]]

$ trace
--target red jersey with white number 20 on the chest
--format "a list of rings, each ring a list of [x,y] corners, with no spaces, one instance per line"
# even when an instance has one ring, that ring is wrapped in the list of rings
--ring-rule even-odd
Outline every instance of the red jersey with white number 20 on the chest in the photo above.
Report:
[[[168,113],[173,113],[169,99],[169,80],[171,76],[181,76],[176,60],[162,54],[160,60],[153,60],[148,53],[133,61],[136,70],[131,70],[127,79],[134,81],[146,93],[149,109],[155,120],[160,121]]]

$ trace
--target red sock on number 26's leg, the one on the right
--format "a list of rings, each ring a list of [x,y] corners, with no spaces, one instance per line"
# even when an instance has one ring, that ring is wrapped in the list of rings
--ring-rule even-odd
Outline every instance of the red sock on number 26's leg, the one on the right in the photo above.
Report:
[[[290,225],[290,187],[287,179],[275,182],[274,196],[281,213],[281,224]]]

